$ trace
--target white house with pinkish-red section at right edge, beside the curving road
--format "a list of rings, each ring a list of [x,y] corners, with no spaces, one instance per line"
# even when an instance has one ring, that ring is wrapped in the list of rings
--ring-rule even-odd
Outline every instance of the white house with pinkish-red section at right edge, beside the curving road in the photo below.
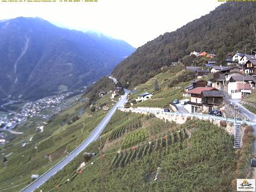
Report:
[[[251,89],[255,87],[254,77],[232,76],[227,86],[227,93],[231,96],[232,99],[241,99],[246,94],[252,93]]]

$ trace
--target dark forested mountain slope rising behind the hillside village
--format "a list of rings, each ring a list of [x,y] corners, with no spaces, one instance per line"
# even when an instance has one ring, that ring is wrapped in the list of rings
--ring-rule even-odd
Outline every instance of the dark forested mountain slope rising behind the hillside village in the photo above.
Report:
[[[255,2],[224,3],[208,15],[144,44],[116,66],[112,74],[122,84],[129,82],[133,87],[194,50],[222,55],[236,51],[249,53],[256,49],[255,18]]]

